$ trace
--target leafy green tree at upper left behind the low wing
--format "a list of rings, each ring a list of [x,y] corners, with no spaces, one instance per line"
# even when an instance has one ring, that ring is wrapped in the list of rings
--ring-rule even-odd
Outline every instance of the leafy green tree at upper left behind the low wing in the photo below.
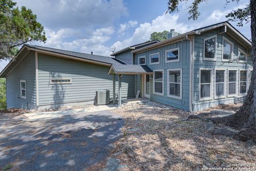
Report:
[[[0,59],[14,58],[18,47],[33,41],[46,41],[44,27],[25,6],[12,0],[0,1]]]

